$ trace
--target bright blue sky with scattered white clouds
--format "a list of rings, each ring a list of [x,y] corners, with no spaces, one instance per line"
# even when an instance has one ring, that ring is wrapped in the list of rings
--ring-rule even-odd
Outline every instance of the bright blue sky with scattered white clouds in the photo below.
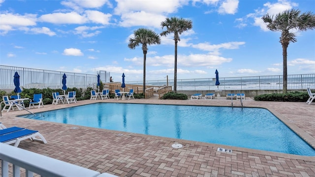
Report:
[[[143,53],[127,47],[139,28],[162,32],[166,17],[192,21],[178,43],[177,79],[282,75],[280,32],[261,17],[315,0],[0,0],[0,64],[142,81]],[[173,35],[148,46],[146,80],[174,78]],[[297,31],[288,74],[315,73],[315,30]]]

